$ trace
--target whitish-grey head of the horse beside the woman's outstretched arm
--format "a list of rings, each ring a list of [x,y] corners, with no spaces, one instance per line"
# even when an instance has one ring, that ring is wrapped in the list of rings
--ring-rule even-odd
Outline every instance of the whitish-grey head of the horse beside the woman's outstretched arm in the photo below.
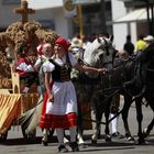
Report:
[[[85,50],[84,61],[92,67],[111,69],[113,52],[114,48],[110,38],[98,37]],[[91,73],[87,73],[87,75],[91,76]]]

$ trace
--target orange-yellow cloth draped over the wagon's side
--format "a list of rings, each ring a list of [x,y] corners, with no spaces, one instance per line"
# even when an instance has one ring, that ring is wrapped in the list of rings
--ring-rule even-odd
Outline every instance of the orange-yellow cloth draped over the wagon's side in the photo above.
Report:
[[[37,94],[0,95],[0,134],[6,132],[22,113],[33,108],[38,99]]]

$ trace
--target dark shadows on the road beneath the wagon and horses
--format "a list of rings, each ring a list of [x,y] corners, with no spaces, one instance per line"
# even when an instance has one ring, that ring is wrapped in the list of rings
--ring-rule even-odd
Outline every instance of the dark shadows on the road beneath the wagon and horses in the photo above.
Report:
[[[138,138],[134,136],[136,140]],[[91,141],[90,141],[90,135],[85,135],[84,136],[85,141],[86,141],[86,144],[88,146],[92,146],[92,147],[108,147],[108,146],[117,146],[117,147],[120,147],[120,146],[131,146],[131,148],[133,148],[134,145],[136,145],[136,143],[134,142],[129,142],[127,141],[125,139],[112,139],[111,142],[106,142],[105,141],[105,136],[101,135],[100,139],[98,140],[98,143],[97,144],[91,144]],[[2,145],[28,145],[28,144],[41,144],[41,140],[42,140],[42,136],[36,136],[34,139],[23,139],[23,138],[19,138],[19,139],[8,139],[7,141],[4,142],[0,142],[0,144]],[[50,140],[50,143],[57,143],[57,138],[56,135],[52,136],[52,139]],[[50,144],[51,146],[52,144]],[[154,145],[154,134],[150,135],[147,139],[146,139],[146,144],[145,145]],[[130,147],[129,147],[130,148]]]

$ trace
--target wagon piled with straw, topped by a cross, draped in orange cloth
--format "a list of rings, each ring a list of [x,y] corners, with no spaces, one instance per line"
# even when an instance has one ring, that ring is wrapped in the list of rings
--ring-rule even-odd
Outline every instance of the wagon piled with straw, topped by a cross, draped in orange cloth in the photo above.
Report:
[[[34,10],[28,8],[26,0],[22,0],[21,7],[14,11],[22,15],[22,21],[12,23],[6,32],[0,33],[0,141],[7,140],[8,131],[12,125],[16,124],[22,125],[23,136],[28,138],[28,133],[25,133],[29,129],[28,125],[30,124],[31,129],[36,129],[35,127],[37,127],[36,121],[36,124],[33,123],[35,119],[33,118],[31,125],[28,122],[29,118],[37,108],[41,111],[42,107],[42,103],[40,103],[42,96],[37,94],[35,85],[30,89],[29,94],[21,92],[23,82],[20,80],[18,73],[13,72],[18,50],[22,45],[31,45],[33,53],[28,58],[31,63],[34,63],[37,57],[36,47],[42,42],[52,43],[58,37],[55,31],[46,30],[38,22],[28,20],[28,15],[34,13]],[[86,102],[87,100],[84,99],[84,101]],[[82,103],[81,110],[84,112],[89,109],[90,105]],[[89,118],[90,116],[88,116]],[[38,117],[36,119],[40,120]],[[84,123],[85,129],[91,129],[91,122]]]

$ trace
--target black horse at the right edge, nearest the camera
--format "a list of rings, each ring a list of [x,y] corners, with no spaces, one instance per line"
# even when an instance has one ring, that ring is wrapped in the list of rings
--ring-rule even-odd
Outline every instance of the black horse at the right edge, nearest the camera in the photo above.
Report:
[[[125,138],[130,141],[133,140],[131,131],[129,129],[128,116],[129,109],[133,101],[136,107],[136,120],[138,120],[138,143],[144,144],[145,136],[147,136],[153,129],[154,118],[144,131],[142,131],[142,99],[144,98],[147,106],[154,111],[154,47],[145,50],[140,57],[134,56],[124,62],[123,67],[114,69],[117,75],[112,75],[111,82],[121,78],[121,88],[119,92],[124,97],[124,105],[119,113],[122,113],[123,124],[125,129]],[[119,69],[123,69],[121,73]],[[116,80],[114,80],[116,79]]]

